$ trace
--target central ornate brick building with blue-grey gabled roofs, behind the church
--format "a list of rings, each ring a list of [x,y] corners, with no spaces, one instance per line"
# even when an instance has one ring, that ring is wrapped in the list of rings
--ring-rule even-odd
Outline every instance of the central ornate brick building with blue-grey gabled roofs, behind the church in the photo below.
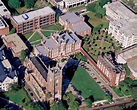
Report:
[[[44,55],[52,59],[60,59],[80,51],[81,40],[73,33],[55,33],[49,39],[43,39],[34,47],[35,55]]]

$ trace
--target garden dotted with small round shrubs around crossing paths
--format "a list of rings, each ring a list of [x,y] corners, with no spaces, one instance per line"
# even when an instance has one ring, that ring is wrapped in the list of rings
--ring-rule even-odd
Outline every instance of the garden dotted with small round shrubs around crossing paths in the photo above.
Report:
[[[90,36],[83,38],[83,48],[89,53],[89,55],[97,61],[98,55],[105,54],[110,50],[115,50],[117,53],[120,50],[120,46],[113,38],[105,31],[100,33],[92,33]]]

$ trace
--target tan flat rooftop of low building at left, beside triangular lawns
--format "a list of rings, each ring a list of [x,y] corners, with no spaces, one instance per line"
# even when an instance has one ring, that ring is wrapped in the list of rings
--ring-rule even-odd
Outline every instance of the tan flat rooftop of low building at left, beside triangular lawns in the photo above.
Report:
[[[11,49],[14,53],[18,53],[18,52],[21,52],[21,50],[27,49],[27,46],[25,45],[25,43],[16,33],[4,36],[3,39],[7,43],[13,43],[13,46],[11,47]]]

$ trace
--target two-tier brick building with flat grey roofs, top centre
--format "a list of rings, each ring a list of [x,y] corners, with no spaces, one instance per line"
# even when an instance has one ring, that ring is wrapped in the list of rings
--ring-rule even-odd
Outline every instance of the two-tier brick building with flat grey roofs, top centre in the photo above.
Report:
[[[59,23],[64,26],[65,30],[69,30],[77,35],[84,36],[91,34],[91,27],[85,23],[84,17],[75,13],[66,13],[60,16]]]

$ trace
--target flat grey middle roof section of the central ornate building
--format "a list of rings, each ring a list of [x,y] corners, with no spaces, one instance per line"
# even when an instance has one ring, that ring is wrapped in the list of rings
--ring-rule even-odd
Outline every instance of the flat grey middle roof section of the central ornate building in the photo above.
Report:
[[[52,38],[46,39],[46,41],[44,42],[44,44],[50,50],[58,48],[58,44]]]

